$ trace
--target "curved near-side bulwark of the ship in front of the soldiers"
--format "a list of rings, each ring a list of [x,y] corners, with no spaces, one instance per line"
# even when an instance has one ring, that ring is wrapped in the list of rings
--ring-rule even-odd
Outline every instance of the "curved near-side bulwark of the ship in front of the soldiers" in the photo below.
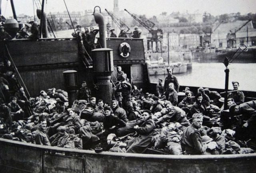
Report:
[[[95,153],[0,139],[3,173],[255,173],[256,154]]]

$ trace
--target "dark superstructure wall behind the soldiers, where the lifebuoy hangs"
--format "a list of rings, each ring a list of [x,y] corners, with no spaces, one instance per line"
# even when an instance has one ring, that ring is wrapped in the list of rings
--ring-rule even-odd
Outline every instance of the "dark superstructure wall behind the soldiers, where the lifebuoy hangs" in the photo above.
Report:
[[[107,47],[113,49],[114,72],[112,81],[116,82],[116,67],[122,66],[132,83],[138,87],[149,82],[148,68],[145,63],[143,39],[107,38]],[[130,56],[120,56],[119,46],[126,42],[130,45]],[[78,43],[74,38],[43,38],[38,41],[28,39],[6,42],[8,52],[16,65],[30,95],[36,96],[42,89],[52,87],[65,89],[62,72],[76,70],[78,87],[86,80],[93,89],[95,76],[92,68],[86,68],[78,54]],[[89,63],[92,61],[88,59]]]

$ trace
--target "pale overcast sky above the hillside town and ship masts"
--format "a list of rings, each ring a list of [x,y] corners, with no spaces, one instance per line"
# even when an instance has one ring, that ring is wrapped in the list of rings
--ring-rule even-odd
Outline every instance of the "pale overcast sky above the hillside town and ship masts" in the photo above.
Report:
[[[38,0],[36,0],[38,1]],[[94,6],[100,6],[112,11],[114,0],[65,0],[68,10],[84,11],[93,10]],[[63,0],[45,0],[46,12],[63,12],[66,10]],[[225,13],[241,14],[256,13],[256,0],[118,0],[119,9],[126,8],[136,14],[147,16],[158,15],[161,12],[167,14],[174,12],[208,12],[214,16]],[[14,0],[16,14],[33,15],[33,0]],[[2,15],[12,16],[10,0],[2,0]]]

